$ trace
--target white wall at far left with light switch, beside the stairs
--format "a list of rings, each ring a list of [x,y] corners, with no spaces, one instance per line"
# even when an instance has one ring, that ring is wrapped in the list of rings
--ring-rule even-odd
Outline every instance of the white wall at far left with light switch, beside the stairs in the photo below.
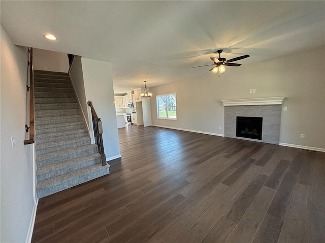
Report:
[[[27,48],[14,46],[1,26],[1,242],[25,242],[36,210],[33,145],[24,145]],[[11,146],[11,136],[16,146]]]

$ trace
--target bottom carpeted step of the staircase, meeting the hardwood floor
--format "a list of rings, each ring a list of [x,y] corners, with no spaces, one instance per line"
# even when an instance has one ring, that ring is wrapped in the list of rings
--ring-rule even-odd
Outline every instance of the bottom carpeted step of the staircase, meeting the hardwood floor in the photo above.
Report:
[[[41,181],[37,183],[37,196],[45,197],[107,174],[109,174],[109,166],[98,164]]]

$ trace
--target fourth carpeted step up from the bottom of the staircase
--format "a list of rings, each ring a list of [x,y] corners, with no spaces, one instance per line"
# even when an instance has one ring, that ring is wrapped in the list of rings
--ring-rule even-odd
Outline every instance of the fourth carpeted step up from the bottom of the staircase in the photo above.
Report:
[[[67,148],[76,148],[83,145],[90,144],[91,139],[89,136],[73,138],[73,139],[64,139],[55,142],[40,143],[36,146],[36,154],[51,153],[55,151],[60,151]]]

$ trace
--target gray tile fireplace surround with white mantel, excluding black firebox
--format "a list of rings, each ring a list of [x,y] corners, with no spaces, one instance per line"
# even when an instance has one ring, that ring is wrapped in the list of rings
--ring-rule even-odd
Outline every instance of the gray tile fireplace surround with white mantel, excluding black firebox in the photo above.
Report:
[[[224,136],[279,144],[282,104],[286,97],[221,100],[224,106]],[[236,117],[263,117],[262,140],[236,137]]]

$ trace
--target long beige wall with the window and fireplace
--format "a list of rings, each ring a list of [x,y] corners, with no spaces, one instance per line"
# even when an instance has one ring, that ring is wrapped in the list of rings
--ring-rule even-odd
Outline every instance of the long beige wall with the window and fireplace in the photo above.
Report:
[[[221,77],[207,68],[204,76],[151,87],[152,124],[224,134],[220,100],[286,96],[280,142],[325,148],[325,47],[258,63],[239,63],[243,65],[226,67]],[[249,93],[249,89],[256,89],[256,93]],[[177,120],[157,119],[155,96],[173,92]],[[305,139],[300,139],[300,134],[305,134]]]

